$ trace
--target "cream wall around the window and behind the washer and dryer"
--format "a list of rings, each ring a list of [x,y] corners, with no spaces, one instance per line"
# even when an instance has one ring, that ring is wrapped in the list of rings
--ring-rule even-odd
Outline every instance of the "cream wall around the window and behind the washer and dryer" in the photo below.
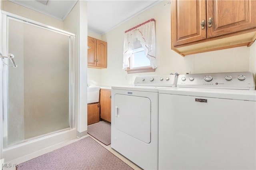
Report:
[[[160,2],[102,36],[102,40],[108,42],[108,68],[101,70],[102,86],[132,85],[138,75],[164,75],[176,72],[185,74],[249,71],[250,65],[254,67],[252,71],[256,72],[255,61],[250,63],[250,55],[255,55],[255,52],[254,54],[251,52],[255,51],[255,43],[252,45],[253,47],[236,47],[185,57],[172,51],[170,43],[170,5],[164,6],[168,2]],[[156,57],[158,65],[156,72],[127,74],[126,71],[122,70],[124,31],[151,18],[156,20]]]

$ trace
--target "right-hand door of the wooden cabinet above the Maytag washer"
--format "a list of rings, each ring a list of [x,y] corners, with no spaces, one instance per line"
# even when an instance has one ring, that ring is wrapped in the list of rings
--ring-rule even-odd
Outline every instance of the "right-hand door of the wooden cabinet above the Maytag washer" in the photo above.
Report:
[[[207,37],[216,37],[256,27],[255,0],[207,0]],[[208,24],[207,24],[208,25]]]

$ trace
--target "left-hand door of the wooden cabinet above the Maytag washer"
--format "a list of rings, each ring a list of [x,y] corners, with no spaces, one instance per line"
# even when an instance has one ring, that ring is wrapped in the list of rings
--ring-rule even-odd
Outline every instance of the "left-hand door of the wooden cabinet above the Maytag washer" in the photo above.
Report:
[[[171,1],[171,32],[173,46],[206,39],[206,1]]]

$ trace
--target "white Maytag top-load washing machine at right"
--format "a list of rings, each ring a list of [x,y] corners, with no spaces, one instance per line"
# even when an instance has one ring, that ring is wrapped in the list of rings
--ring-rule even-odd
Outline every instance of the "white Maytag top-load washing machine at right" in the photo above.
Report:
[[[159,90],[159,169],[256,168],[256,91],[250,72],[179,75]]]

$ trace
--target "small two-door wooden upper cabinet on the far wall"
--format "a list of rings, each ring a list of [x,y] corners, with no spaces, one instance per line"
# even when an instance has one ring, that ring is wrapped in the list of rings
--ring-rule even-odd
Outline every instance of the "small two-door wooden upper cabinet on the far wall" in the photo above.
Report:
[[[88,37],[88,67],[107,68],[107,42]]]

